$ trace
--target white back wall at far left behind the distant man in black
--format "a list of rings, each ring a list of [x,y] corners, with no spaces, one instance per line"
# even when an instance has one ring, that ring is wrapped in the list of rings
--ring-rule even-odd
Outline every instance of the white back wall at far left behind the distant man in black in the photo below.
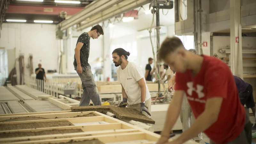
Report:
[[[24,54],[25,76],[29,74],[26,66],[30,53],[33,54],[34,69],[37,68],[39,60],[41,60],[40,63],[45,71],[57,69],[58,44],[55,38],[55,28],[56,25],[52,24],[4,23],[1,30],[0,47],[16,48],[16,58],[20,54]],[[19,74],[18,64],[16,62],[17,74]]]

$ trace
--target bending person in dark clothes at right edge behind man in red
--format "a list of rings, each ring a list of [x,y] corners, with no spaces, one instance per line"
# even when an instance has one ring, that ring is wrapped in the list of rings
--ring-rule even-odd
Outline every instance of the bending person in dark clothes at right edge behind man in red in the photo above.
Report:
[[[246,104],[246,108],[251,108],[253,116],[255,117],[255,103],[253,99],[253,88],[251,84],[246,83],[238,76],[234,76],[236,87],[238,90],[239,98],[241,104],[244,106]],[[256,129],[256,123],[253,125],[252,129]]]

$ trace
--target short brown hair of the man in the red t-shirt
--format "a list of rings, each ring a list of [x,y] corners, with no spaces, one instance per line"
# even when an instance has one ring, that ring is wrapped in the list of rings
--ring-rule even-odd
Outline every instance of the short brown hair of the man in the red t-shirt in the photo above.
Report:
[[[183,44],[179,37],[166,37],[158,51],[158,59],[164,60],[169,53],[174,52],[181,46],[183,46]]]

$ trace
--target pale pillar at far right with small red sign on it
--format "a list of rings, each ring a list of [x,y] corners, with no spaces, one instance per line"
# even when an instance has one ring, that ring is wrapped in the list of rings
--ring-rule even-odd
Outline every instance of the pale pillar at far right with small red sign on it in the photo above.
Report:
[[[243,78],[240,11],[240,0],[230,1],[230,66],[233,75]]]

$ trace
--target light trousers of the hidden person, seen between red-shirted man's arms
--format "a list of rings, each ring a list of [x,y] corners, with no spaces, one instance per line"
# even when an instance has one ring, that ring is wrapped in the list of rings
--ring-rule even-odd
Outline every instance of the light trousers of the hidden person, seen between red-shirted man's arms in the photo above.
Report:
[[[185,132],[196,121],[196,118],[191,111],[186,95],[183,97],[184,98],[180,111],[180,121],[182,123],[182,132]],[[200,132],[197,137],[194,137],[193,140],[203,140],[202,132]]]

